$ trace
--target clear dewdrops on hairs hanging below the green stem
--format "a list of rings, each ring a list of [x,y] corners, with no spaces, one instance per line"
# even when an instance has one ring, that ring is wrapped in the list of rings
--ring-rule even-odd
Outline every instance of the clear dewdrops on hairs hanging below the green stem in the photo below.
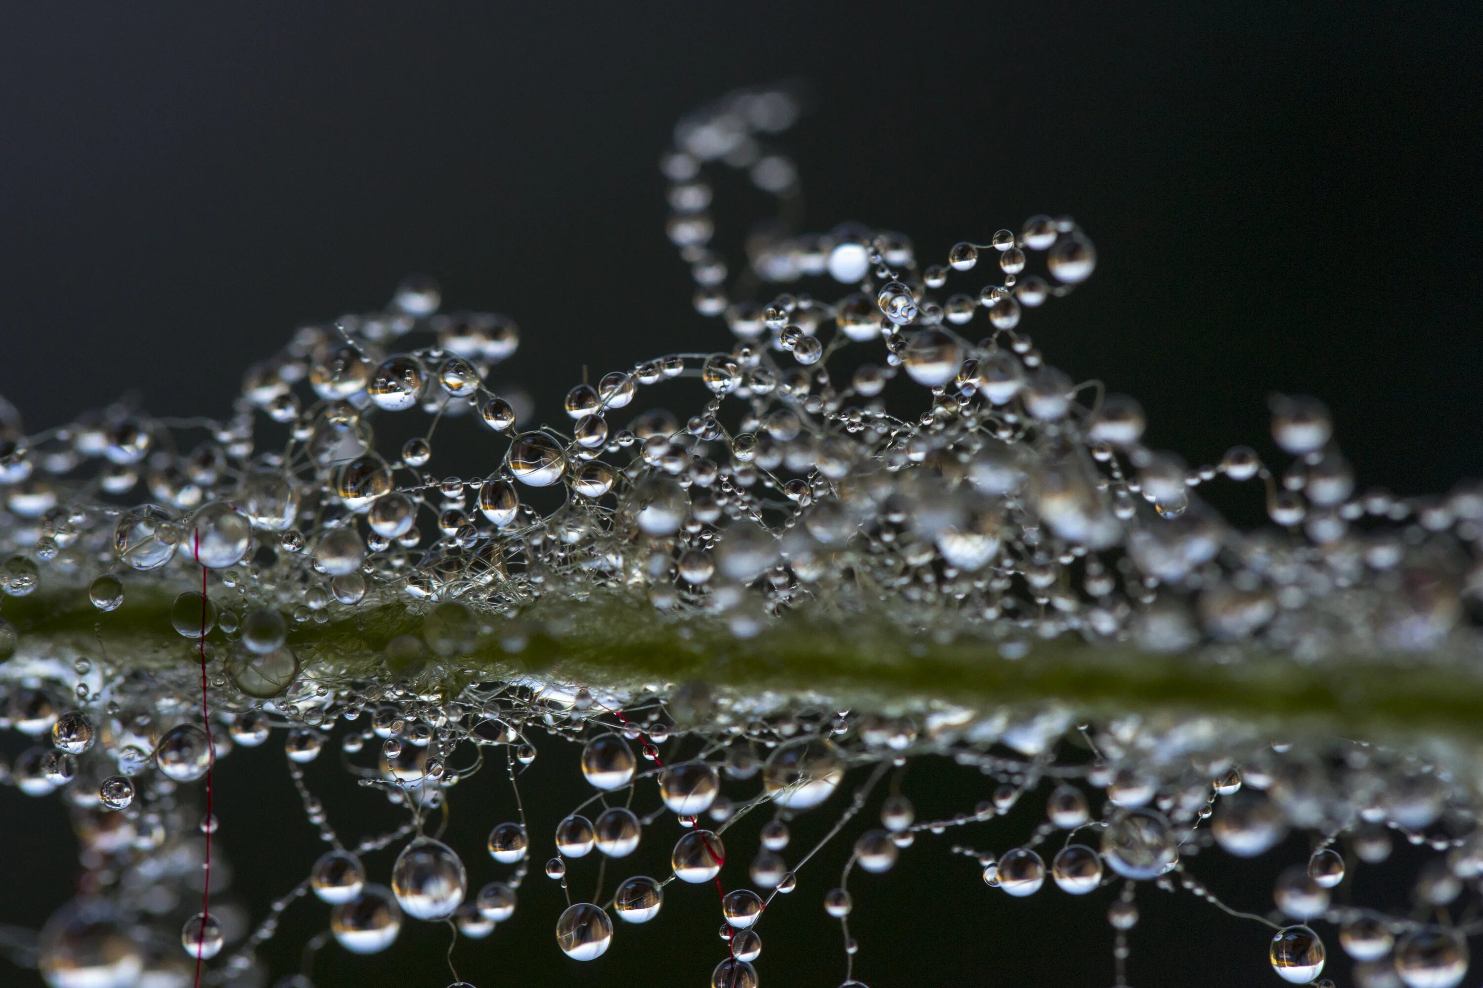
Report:
[[[104,699],[65,708],[68,684],[99,680]],[[1201,717],[1075,723],[1054,708],[925,707],[894,715],[802,701],[779,708],[694,681],[632,692],[556,681],[437,692],[406,680],[335,684],[305,674],[265,704],[224,689],[212,748],[187,712],[190,687],[169,671],[82,661],[71,670],[31,662],[6,678],[3,724],[36,745],[15,758],[6,781],[28,795],[65,794],[86,868],[82,896],[47,921],[34,948],[53,988],[122,988],[141,978],[187,985],[197,954],[217,958],[209,984],[264,984],[257,951],[301,899],[322,902],[328,918],[304,970],[277,982],[283,988],[313,984],[313,957],[328,944],[377,954],[408,923],[451,924],[455,945],[482,941],[515,914],[529,861],[543,849],[555,853],[541,872],[567,898],[555,917],[564,954],[598,960],[624,927],[661,921],[666,896],[678,893],[687,909],[719,907],[713,988],[758,985],[765,920],[773,909],[796,909],[779,898],[799,889],[813,889],[817,908],[839,921],[842,984],[862,984],[856,967],[868,972],[869,944],[850,930],[860,875],[869,883],[930,853],[922,846],[942,847],[934,841],[942,835],[955,841],[952,859],[967,858],[982,872],[989,896],[1102,902],[1118,985],[1129,984],[1139,902],[1157,893],[1188,895],[1265,926],[1271,967],[1292,984],[1315,982],[1336,942],[1361,988],[1452,988],[1468,969],[1470,938],[1483,935],[1474,918],[1483,896],[1483,787],[1464,763],[1364,742],[1271,744],[1249,724]],[[526,816],[521,776],[547,739],[581,747],[592,795],[561,819],[537,821]],[[200,818],[191,784],[233,747],[270,742],[282,745],[325,852],[254,927],[224,865],[212,912],[196,911],[202,835],[219,825]],[[334,750],[359,787],[406,815],[402,827],[341,838],[304,773]],[[982,798],[946,818],[919,818],[906,767],[927,757],[967,773],[955,800],[971,801],[974,791]],[[449,790],[482,770],[506,781],[518,813],[492,821],[485,847],[455,849],[433,828],[448,812]],[[1038,807],[1038,822],[1026,807]],[[819,830],[801,818],[830,813],[819,840],[793,841],[795,828]],[[1307,850],[1295,834],[1307,837]],[[976,849],[970,838],[997,846]],[[1393,859],[1396,844],[1413,850]],[[383,850],[394,859],[371,861]],[[1265,904],[1255,890],[1240,904],[1250,911],[1218,898],[1198,878],[1201,856],[1212,853],[1275,862]],[[820,874],[826,868],[833,871]],[[1391,901],[1351,904],[1366,871],[1396,889]],[[489,875],[482,884],[480,872]],[[593,872],[593,893],[575,899],[577,878],[589,887]],[[605,887],[605,874],[621,877]],[[162,926],[171,917],[179,924],[175,951]],[[1327,944],[1318,932],[1326,926]],[[451,976],[461,984],[457,969]]]

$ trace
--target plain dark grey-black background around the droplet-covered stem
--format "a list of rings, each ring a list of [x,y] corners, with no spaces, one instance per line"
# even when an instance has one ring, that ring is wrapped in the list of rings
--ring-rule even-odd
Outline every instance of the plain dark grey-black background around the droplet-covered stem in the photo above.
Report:
[[[1363,486],[1441,492],[1483,473],[1480,27],[1471,4],[7,3],[0,394],[33,431],[131,390],[157,413],[224,413],[249,360],[303,321],[380,305],[411,271],[521,323],[504,378],[547,413],[583,364],[727,347],[690,308],[655,161],[693,105],[802,77],[814,108],[787,142],[814,228],[902,230],[937,259],[1071,213],[1097,274],[1025,329],[1074,376],[1137,395],[1154,444],[1191,462],[1268,449],[1266,394],[1307,391]],[[719,193],[736,258],[767,203],[740,182]],[[221,846],[251,872],[239,884],[271,895],[291,878],[270,872],[311,861],[311,831],[271,760],[228,764]],[[528,776],[550,822],[575,801],[572,772]],[[946,810],[983,795],[943,772],[916,784]],[[507,816],[503,788],[476,788],[464,798],[489,807],[463,821],[470,862]],[[0,834],[36,849],[0,867],[0,920],[37,921],[71,880],[62,810],[0,792]],[[492,877],[486,858],[472,867],[475,884]],[[1268,901],[1265,867],[1201,867],[1241,904]],[[703,984],[721,957],[713,902],[679,889],[602,961],[564,964],[544,886],[460,948],[467,979]],[[841,976],[825,887],[805,881],[764,924],[765,984]],[[857,973],[875,988],[1111,981],[1100,896],[1013,902],[925,847],[859,889]],[[1258,927],[1155,902],[1134,984],[1277,984]],[[297,908],[294,939],[322,917]],[[409,933],[369,964],[331,949],[319,984],[445,984],[443,933]]]

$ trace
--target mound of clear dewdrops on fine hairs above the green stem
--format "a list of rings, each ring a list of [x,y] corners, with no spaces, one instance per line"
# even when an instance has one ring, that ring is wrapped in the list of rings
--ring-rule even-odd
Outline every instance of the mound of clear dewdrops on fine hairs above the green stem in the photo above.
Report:
[[[730,351],[605,373],[565,395],[565,430],[532,428],[522,394],[486,384],[515,323],[440,314],[437,287],[414,278],[386,311],[305,327],[254,364],[225,421],[110,407],[36,435],[6,424],[0,585],[82,584],[105,613],[206,566],[228,591],[214,615],[227,661],[258,696],[292,678],[298,624],[397,601],[515,615],[595,593],[739,637],[790,610],[871,615],[1008,658],[1059,635],[1305,658],[1477,650],[1483,487],[1358,492],[1327,410],[1304,397],[1272,400],[1284,468],[1246,446],[1195,468],[1145,446],[1133,398],[1075,382],[1020,329],[1096,267],[1069,219],[1034,216],[925,265],[890,231],[770,227],[734,281],[789,290],[731,298],[706,167],[747,169],[786,206],[796,170],[764,138],[793,116],[786,93],[733,96],[682,123],[663,160],[670,237]],[[983,268],[989,284],[936,295]],[[642,400],[691,381],[690,416]],[[417,412],[426,428],[408,428]],[[470,453],[483,443],[488,458]],[[435,447],[495,465],[439,475]],[[1277,527],[1226,524],[1198,496],[1219,480],[1261,484]]]

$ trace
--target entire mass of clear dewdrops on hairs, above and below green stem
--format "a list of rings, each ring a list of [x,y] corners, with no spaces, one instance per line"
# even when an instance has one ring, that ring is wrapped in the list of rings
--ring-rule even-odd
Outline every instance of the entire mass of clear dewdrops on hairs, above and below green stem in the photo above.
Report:
[[[743,727],[736,711],[722,708],[715,723],[672,732],[658,704],[647,708],[644,727],[621,712],[617,723],[605,723],[586,690],[553,695],[497,684],[449,699],[421,695],[394,675],[368,683],[300,668],[285,644],[283,612],[294,622],[325,622],[392,600],[440,601],[443,631],[389,646],[394,671],[415,668],[427,652],[455,656],[460,649],[445,638],[463,634],[460,621],[476,625],[480,613],[518,612],[549,595],[580,598],[596,588],[639,593],[660,615],[712,615],[743,637],[793,607],[820,615],[872,610],[912,632],[988,638],[1007,658],[1023,655],[1032,637],[1068,632],[1133,640],[1149,650],[1256,640],[1298,656],[1348,649],[1476,653],[1476,628],[1462,601],[1483,584],[1483,492],[1357,495],[1332,443],[1327,412],[1311,398],[1274,400],[1274,438],[1295,458],[1280,474],[1249,447],[1195,470],[1146,449],[1143,415],[1132,398],[1105,395],[1097,382],[1077,385],[1019,329],[1025,308],[1066,295],[1094,268],[1091,243],[1069,219],[1037,216],[1019,234],[1003,230],[986,244],[960,243],[945,265],[927,267],[902,234],[842,225],[805,236],[777,225],[749,237],[747,265],[727,289],[727,264],[710,247],[704,169],[746,169],[753,184],[779,196],[786,224],[795,212],[796,169],[764,145],[795,116],[786,93],[752,92],[676,129],[676,147],[663,160],[672,182],[667,230],[691,265],[697,311],[721,317],[739,342],[728,353],[670,354],[610,373],[596,387],[572,388],[565,400],[569,434],[522,431],[519,401],[485,384],[513,354],[515,324],[488,314],[440,316],[439,292],[426,280],[405,283],[386,313],[297,333],[283,351],[249,369],[224,422],[151,419],[111,407],[25,435],[18,416],[0,409],[4,593],[24,597],[43,585],[86,584],[93,606],[108,612],[123,600],[120,573],[131,582],[174,585],[196,557],[219,570],[224,603],[182,594],[175,630],[202,634],[203,613],[206,631],[219,628],[227,646],[212,646],[218,662],[211,686],[222,702],[212,707],[230,718],[240,745],[285,730],[305,815],[332,846],[307,884],[276,901],[212,976],[230,984],[249,972],[254,949],[273,936],[279,914],[310,889],[332,904],[331,935],[351,951],[389,947],[403,914],[455,915],[469,938],[492,932],[513,912],[526,874],[523,804],[521,819],[497,827],[489,838],[495,861],[516,869],[467,904],[464,865],[424,834],[424,818],[446,813],[443,791],[479,770],[488,745],[506,748],[518,797],[515,766],[535,758],[526,730],[541,729],[584,741],[584,772],[602,790],[599,797],[627,790],[632,804],[641,781],[655,782],[661,795],[661,806],[642,816],[601,798],[596,824],[580,813],[564,819],[561,853],[546,867],[564,889],[568,859],[593,846],[604,861],[626,856],[666,812],[688,831],[675,846],[667,878],[629,878],[605,908],[569,904],[558,942],[574,957],[590,960],[607,949],[610,911],[647,920],[672,881],[718,880],[727,861],[722,834],[773,804],[777,816],[749,868],[768,898],[744,889],[722,895],[728,955],[713,976],[716,985],[755,985],[755,926],[773,898],[792,892],[798,868],[865,807],[887,766],[908,755],[949,754],[1000,788],[973,813],[914,822],[909,800],[893,782],[882,828],[856,840],[839,886],[826,896],[844,929],[848,982],[857,949],[845,926],[853,869],[884,871],[916,834],[986,824],[1041,781],[1060,778],[1047,798],[1048,821],[1028,840],[1003,855],[970,856],[991,886],[1029,895],[1046,877],[1035,849],[1066,830],[1068,843],[1050,867],[1056,884],[1077,895],[1099,889],[1114,881],[1103,865],[1124,880],[1109,909],[1120,984],[1126,933],[1136,923],[1133,883],[1173,890],[1169,874],[1178,872],[1182,889],[1246,915],[1194,880],[1183,859],[1212,844],[1238,856],[1261,853],[1287,828],[1317,837],[1309,864],[1278,880],[1280,917],[1342,924],[1341,944],[1363,964],[1378,964],[1375,972],[1384,961],[1406,984],[1455,984],[1447,979],[1462,976],[1465,938],[1479,932],[1476,923],[1333,908],[1327,892],[1347,871],[1330,844],[1344,835],[1361,861],[1378,862],[1388,853],[1385,828],[1446,853],[1439,859],[1444,864],[1418,874],[1418,902],[1440,909],[1456,902],[1464,886],[1476,892],[1483,874],[1483,843],[1473,827],[1476,787],[1431,763],[1345,747],[1342,772],[1329,779],[1329,769],[1311,760],[1274,764],[1272,752],[1250,739],[1228,738],[1223,748],[1209,738],[1191,744],[1178,727],[1164,732],[1136,721],[1103,726],[1096,742],[1089,730],[1077,732],[1097,758],[1057,763],[1048,755],[1069,735],[1053,710],[1028,721],[995,715],[971,729],[937,724],[919,736],[909,720],[810,721],[792,711]],[[995,283],[937,302],[931,292],[976,270],[980,253],[997,261]],[[1044,255],[1048,278],[1026,273],[1035,255]],[[742,299],[762,284],[802,278],[829,278],[850,293],[833,302],[796,290],[767,302]],[[979,342],[964,335],[974,318],[989,323]],[[414,333],[435,339],[397,347]],[[884,345],[884,360],[856,361],[845,381],[841,363],[854,356],[854,344]],[[930,391],[928,407],[915,418],[897,418],[884,403],[888,387],[893,397],[902,391],[891,382],[903,376]],[[610,427],[639,387],[682,378],[698,378],[709,394],[688,419],[650,410],[626,428]],[[432,416],[427,431],[396,455],[378,452],[374,416],[415,407]],[[273,444],[260,415],[286,427],[286,437]],[[478,418],[509,437],[501,465],[485,478],[439,478],[424,470],[435,433],[458,418]],[[202,431],[205,440],[182,452],[187,437]],[[626,464],[614,465],[624,456]],[[1231,530],[1194,493],[1219,475],[1264,483],[1268,514],[1286,532]],[[565,501],[537,508],[526,489],[541,487],[562,490]],[[424,517],[433,520],[429,532],[420,526]],[[196,533],[199,548],[178,551]],[[451,613],[463,618],[449,624]],[[519,647],[513,638],[506,644]],[[15,649],[15,630],[3,618],[0,649]],[[47,684],[68,680],[79,710],[59,714]],[[4,707],[7,724],[33,736],[50,732],[55,742],[16,758],[7,781],[37,795],[67,788],[87,881],[117,893],[107,908],[136,911],[131,881],[159,874],[168,852],[182,855],[185,869],[172,874],[188,881],[188,849],[199,828],[185,822],[190,810],[176,787],[200,778],[212,752],[205,732],[184,721],[185,687],[166,674],[105,675],[79,658],[71,677],[65,670],[49,678],[24,674]],[[607,702],[621,711],[626,699]],[[343,738],[347,766],[363,785],[406,807],[412,821],[351,852],[297,766],[319,757],[337,720],[365,711],[374,711],[372,723]],[[102,739],[96,748],[95,730]],[[697,739],[698,751],[660,761],[658,745],[670,736],[675,744]],[[635,773],[624,739],[639,738],[657,767]],[[746,744],[739,747],[739,739]],[[350,761],[377,741],[377,767]],[[478,757],[466,770],[449,769],[448,757],[463,742],[473,742]],[[771,748],[764,790],[733,804],[719,795],[716,763],[746,779],[758,770],[756,745]],[[98,755],[83,758],[90,750]],[[589,761],[596,766],[590,772]],[[605,772],[624,775],[623,764],[630,767],[618,785],[598,782]],[[825,841],[787,869],[779,852],[787,846],[790,816],[828,798],[847,769],[865,766],[873,766],[869,781]],[[1084,792],[1071,781],[1108,792],[1103,819],[1090,818]],[[1247,792],[1268,797],[1240,798],[1243,781]],[[701,813],[718,822],[715,831],[700,828]],[[1444,815],[1461,832],[1433,830]],[[1204,819],[1213,827],[1201,828]],[[1081,828],[1102,834],[1099,849],[1069,843]],[[406,835],[415,837],[397,858],[392,890],[368,884],[360,855]],[[627,850],[612,853],[617,847]],[[120,855],[136,859],[123,867]],[[42,954],[53,984],[67,984],[59,958],[77,947],[68,936],[82,936],[71,924],[98,926],[102,908],[89,902],[53,920]],[[1274,918],[1264,921],[1275,926]],[[221,949],[227,932],[217,927],[214,944],[200,926],[187,929],[187,949]],[[1317,935],[1301,924],[1277,929],[1271,957],[1278,973],[1289,981],[1317,976]]]

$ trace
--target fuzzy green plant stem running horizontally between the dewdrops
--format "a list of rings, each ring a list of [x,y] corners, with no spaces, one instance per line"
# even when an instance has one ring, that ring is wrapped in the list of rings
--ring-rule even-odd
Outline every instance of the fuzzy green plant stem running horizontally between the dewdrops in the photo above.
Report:
[[[169,607],[169,595],[131,593],[119,610],[98,613],[85,595],[62,594],[7,600],[3,616],[21,632],[22,652],[70,640],[83,650],[102,647],[114,662],[191,662],[194,649],[181,647]],[[368,606],[323,625],[297,625],[289,644],[305,668],[328,664],[366,677],[386,668],[387,641],[423,637],[427,619],[400,603]],[[739,640],[713,621],[669,622],[615,595],[482,621],[486,631],[472,647],[442,662],[460,670],[455,678],[543,674],[617,689],[698,680],[739,695],[808,693],[862,710],[1060,704],[1086,715],[1207,714],[1269,723],[1275,732],[1483,741],[1483,671],[1462,656],[1299,662],[1246,652],[1216,662],[1062,637],[1011,661],[983,641],[936,643],[868,616],[789,616]],[[219,640],[219,631],[212,637]]]

